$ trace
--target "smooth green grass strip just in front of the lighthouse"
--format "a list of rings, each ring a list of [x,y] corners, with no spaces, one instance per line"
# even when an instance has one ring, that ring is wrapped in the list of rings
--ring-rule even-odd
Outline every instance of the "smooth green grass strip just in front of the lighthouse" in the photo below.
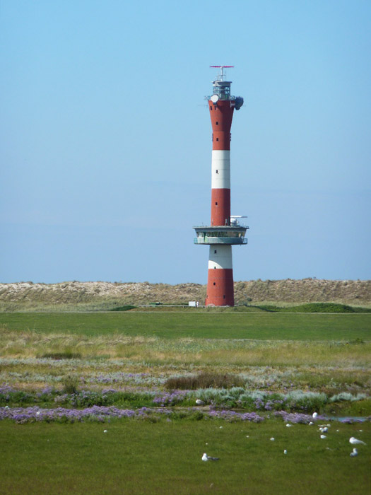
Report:
[[[371,339],[371,314],[318,313],[0,313],[9,330],[98,336],[207,339]]]

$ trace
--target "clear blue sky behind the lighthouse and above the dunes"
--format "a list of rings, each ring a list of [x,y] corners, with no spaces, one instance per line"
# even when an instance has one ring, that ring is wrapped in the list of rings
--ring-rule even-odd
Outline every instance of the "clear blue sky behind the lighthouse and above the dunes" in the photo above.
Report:
[[[206,283],[229,69],[235,280],[370,279],[369,0],[1,0],[0,281]]]

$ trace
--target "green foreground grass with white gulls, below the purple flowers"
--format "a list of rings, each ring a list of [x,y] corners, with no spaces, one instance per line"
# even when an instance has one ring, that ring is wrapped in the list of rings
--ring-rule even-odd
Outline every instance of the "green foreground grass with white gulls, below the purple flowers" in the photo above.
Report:
[[[3,421],[0,493],[370,494],[370,423],[334,422],[326,439],[319,434],[315,425],[286,428],[273,419],[262,424]],[[356,458],[349,455],[351,436],[367,442]],[[220,460],[202,462],[204,452]]]

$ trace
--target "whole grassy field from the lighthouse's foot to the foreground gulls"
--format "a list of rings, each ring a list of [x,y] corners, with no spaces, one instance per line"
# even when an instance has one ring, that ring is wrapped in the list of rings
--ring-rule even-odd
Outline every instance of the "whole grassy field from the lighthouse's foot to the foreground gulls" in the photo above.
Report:
[[[326,419],[321,439],[323,419],[288,428],[274,410],[370,416],[370,337],[370,313],[0,313],[0,418],[36,407],[0,421],[0,494],[368,495],[370,421]],[[197,373],[242,385],[166,388]],[[172,414],[72,424],[46,414],[105,394]],[[220,409],[264,421],[213,419]],[[351,436],[367,443],[355,458]],[[204,452],[220,460],[202,462]]]

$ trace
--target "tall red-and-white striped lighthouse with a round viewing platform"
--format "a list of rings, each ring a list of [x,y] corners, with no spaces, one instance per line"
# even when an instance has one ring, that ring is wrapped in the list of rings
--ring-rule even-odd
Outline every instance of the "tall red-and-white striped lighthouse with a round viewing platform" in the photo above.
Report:
[[[225,80],[228,65],[212,65],[220,69],[213,81],[213,94],[207,96],[211,117],[213,151],[211,152],[211,222],[195,226],[195,244],[209,246],[206,305],[235,305],[233,291],[232,245],[247,244],[247,226],[241,215],[230,214],[230,127],[234,110],[244,100],[230,94],[231,81]]]

